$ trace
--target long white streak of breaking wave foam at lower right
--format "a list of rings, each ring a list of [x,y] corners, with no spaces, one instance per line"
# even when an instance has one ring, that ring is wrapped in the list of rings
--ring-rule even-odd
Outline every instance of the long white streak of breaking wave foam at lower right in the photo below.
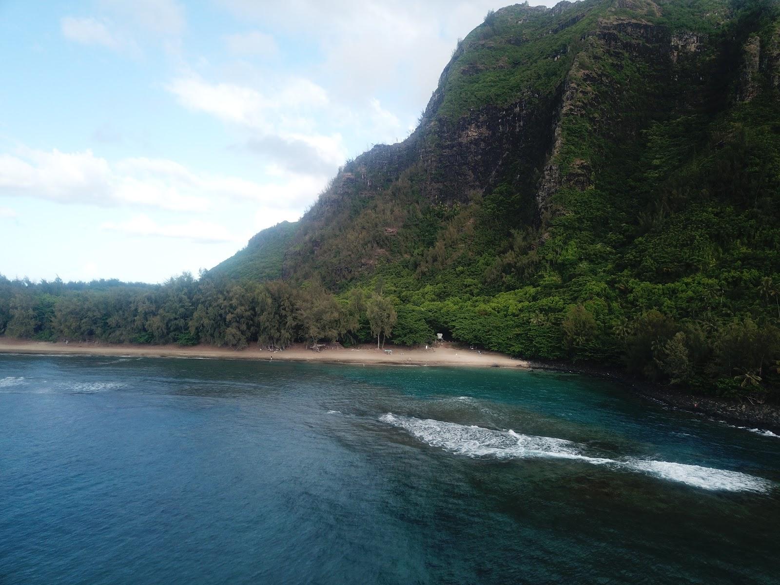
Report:
[[[473,458],[573,459],[591,465],[646,473],[706,490],[761,492],[767,491],[772,485],[768,480],[738,471],[668,461],[590,457],[583,455],[584,445],[560,438],[519,434],[511,430],[495,431],[441,420],[399,417],[392,413],[382,415],[379,420],[404,429],[427,445]]]

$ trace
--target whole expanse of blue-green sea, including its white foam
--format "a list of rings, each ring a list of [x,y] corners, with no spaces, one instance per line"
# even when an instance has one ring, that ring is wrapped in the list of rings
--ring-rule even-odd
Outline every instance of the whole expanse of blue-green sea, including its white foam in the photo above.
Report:
[[[778,583],[780,438],[573,374],[0,356],[0,583]]]

